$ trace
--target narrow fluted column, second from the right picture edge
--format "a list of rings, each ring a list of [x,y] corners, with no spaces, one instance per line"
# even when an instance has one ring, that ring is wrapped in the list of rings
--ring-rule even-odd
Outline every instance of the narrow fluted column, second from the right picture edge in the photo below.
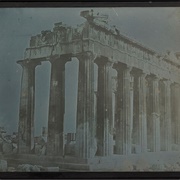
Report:
[[[165,151],[171,151],[171,82],[164,80],[164,145]]]

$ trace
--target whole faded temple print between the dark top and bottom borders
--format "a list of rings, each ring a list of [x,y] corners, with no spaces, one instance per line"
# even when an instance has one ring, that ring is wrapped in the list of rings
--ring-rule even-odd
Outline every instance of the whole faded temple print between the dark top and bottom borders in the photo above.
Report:
[[[0,10],[0,171],[179,171],[180,9],[36,10]]]

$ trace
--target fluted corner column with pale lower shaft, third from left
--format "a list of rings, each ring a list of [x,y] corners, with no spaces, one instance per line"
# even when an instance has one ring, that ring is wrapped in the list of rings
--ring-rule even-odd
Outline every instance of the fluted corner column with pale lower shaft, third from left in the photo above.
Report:
[[[94,57],[90,52],[77,56],[79,60],[78,101],[76,122],[76,155],[81,158],[95,156],[94,114]]]

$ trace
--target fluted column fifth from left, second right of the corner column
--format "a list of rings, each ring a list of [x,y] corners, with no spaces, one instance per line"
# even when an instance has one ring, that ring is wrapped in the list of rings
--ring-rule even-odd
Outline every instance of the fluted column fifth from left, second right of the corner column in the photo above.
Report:
[[[131,154],[133,122],[133,89],[131,68],[125,64],[114,64],[117,71],[116,92],[116,154]]]

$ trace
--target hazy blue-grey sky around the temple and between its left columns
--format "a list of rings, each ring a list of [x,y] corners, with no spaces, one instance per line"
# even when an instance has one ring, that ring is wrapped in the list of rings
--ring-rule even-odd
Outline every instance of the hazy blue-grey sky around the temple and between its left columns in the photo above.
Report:
[[[8,132],[17,131],[22,69],[16,61],[23,59],[30,37],[51,30],[56,22],[80,24],[84,22],[80,11],[87,9],[90,8],[0,8],[0,126],[5,126]],[[180,8],[97,8],[95,11],[108,14],[111,25],[156,51],[180,51]],[[69,109],[65,118],[70,122],[75,116],[76,102],[72,98],[77,87],[72,84],[77,78],[77,62],[67,67],[71,73],[66,73]],[[36,69],[36,134],[47,122],[49,73],[49,63]],[[65,126],[66,131],[75,129],[68,123]]]

